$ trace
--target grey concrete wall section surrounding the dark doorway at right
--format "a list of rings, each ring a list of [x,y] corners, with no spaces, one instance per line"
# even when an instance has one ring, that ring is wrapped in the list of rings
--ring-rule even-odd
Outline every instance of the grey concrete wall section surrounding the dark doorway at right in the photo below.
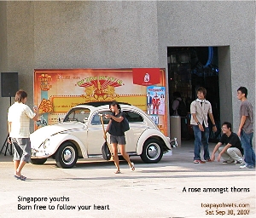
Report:
[[[165,1],[157,11],[160,66],[166,66],[166,46],[219,47],[221,123],[230,121],[236,131],[236,89],[246,86],[255,108],[255,3]]]

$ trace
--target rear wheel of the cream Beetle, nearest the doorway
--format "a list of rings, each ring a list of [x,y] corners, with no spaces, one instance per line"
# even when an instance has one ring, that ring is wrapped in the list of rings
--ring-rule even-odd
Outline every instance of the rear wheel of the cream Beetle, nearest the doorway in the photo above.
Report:
[[[144,163],[155,164],[163,157],[161,142],[155,139],[145,141],[141,158]]]

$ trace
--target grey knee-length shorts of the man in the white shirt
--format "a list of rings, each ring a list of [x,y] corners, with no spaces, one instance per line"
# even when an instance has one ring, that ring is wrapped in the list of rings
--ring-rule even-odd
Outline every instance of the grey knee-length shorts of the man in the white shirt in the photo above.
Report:
[[[11,138],[15,147],[14,160],[30,162],[31,143],[29,138]]]

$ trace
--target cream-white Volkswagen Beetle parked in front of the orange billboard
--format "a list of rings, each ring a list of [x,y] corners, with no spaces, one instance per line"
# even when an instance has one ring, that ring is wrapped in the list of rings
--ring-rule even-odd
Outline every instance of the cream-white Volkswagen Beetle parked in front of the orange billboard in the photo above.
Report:
[[[47,158],[55,158],[58,167],[72,168],[78,158],[102,156],[104,139],[99,114],[110,113],[109,104],[109,101],[101,101],[74,106],[67,112],[63,123],[44,126],[33,132],[32,164],[44,164]],[[177,142],[163,135],[137,106],[119,105],[130,124],[130,130],[125,132],[125,149],[130,156],[140,155],[145,163],[158,163],[163,153],[177,146]],[[103,117],[105,129],[108,121]]]

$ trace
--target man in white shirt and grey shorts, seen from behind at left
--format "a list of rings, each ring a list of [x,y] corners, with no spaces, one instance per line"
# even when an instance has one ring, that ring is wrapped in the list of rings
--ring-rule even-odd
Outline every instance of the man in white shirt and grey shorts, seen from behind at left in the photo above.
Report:
[[[38,120],[38,107],[34,107],[34,112],[32,112],[29,106],[26,106],[26,100],[26,92],[17,91],[15,103],[9,107],[8,112],[9,143],[12,143],[15,148],[15,178],[21,181],[26,180],[26,176],[21,175],[21,170],[31,158],[30,119]]]

